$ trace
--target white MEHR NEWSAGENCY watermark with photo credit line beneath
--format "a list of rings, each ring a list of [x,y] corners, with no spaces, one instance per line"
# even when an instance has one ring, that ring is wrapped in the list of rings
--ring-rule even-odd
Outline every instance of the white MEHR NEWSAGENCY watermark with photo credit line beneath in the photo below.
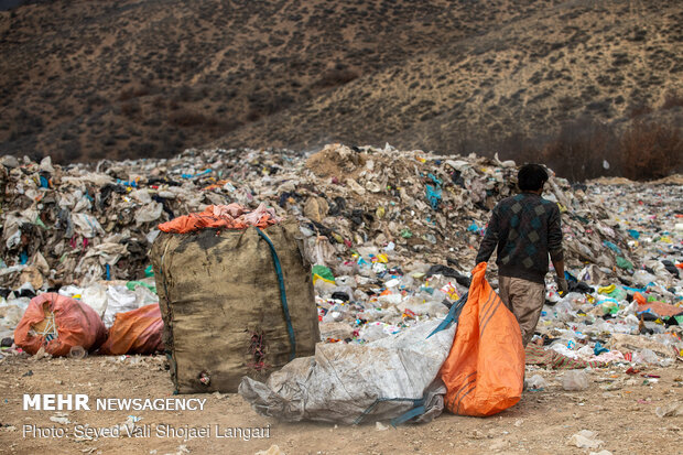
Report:
[[[94,401],[87,394],[39,393],[23,396],[24,411],[203,411],[206,398],[98,398]],[[226,426],[219,423],[202,425],[142,423],[141,418],[129,415],[126,423],[95,426],[90,424],[64,422],[62,424],[23,424],[24,438],[115,438],[115,437],[160,437],[160,438],[231,438],[250,441],[270,438],[270,424],[265,426]]]

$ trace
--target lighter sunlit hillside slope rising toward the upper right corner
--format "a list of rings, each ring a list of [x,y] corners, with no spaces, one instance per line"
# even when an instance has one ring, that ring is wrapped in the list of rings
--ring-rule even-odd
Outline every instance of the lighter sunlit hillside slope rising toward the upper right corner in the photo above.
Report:
[[[388,140],[468,153],[505,149],[516,138],[542,142],[582,117],[619,128],[654,112],[680,126],[680,4],[561,4],[446,42],[236,130],[223,142],[314,147]]]

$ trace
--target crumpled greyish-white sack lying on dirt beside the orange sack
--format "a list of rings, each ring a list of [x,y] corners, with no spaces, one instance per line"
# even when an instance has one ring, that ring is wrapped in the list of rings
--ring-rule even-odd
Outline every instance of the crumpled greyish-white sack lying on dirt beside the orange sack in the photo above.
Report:
[[[366,345],[318,344],[265,383],[245,377],[239,393],[262,415],[349,424],[397,418],[424,397],[427,422],[443,410],[446,389],[435,379],[455,334],[454,324],[427,338],[440,323]]]

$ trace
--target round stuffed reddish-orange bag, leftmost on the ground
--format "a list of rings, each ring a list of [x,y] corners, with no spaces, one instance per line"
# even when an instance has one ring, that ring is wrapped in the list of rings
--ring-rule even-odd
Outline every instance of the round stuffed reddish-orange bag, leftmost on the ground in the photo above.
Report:
[[[107,328],[87,304],[56,293],[31,300],[14,329],[14,343],[29,354],[41,346],[53,356],[66,356],[72,347],[97,349],[107,338]]]

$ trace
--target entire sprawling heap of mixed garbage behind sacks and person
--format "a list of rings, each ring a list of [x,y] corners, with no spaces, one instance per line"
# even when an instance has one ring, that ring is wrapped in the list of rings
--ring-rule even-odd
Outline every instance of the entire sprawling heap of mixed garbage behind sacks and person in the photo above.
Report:
[[[145,295],[131,306],[150,303],[148,251],[159,225],[238,203],[300,221],[323,340],[373,342],[447,313],[468,288],[490,208],[517,183],[512,161],[389,145],[329,144],[311,155],[193,149],[169,160],[68,166],[4,156],[0,164],[1,336],[34,293],[85,300],[95,286],[108,302],[138,292]],[[572,292],[561,297],[549,281],[536,342],[575,360],[632,351],[637,360],[653,361],[654,353],[673,361],[683,348],[683,186],[571,185],[555,176],[543,196],[561,207]],[[489,275],[496,285],[492,262]]]

